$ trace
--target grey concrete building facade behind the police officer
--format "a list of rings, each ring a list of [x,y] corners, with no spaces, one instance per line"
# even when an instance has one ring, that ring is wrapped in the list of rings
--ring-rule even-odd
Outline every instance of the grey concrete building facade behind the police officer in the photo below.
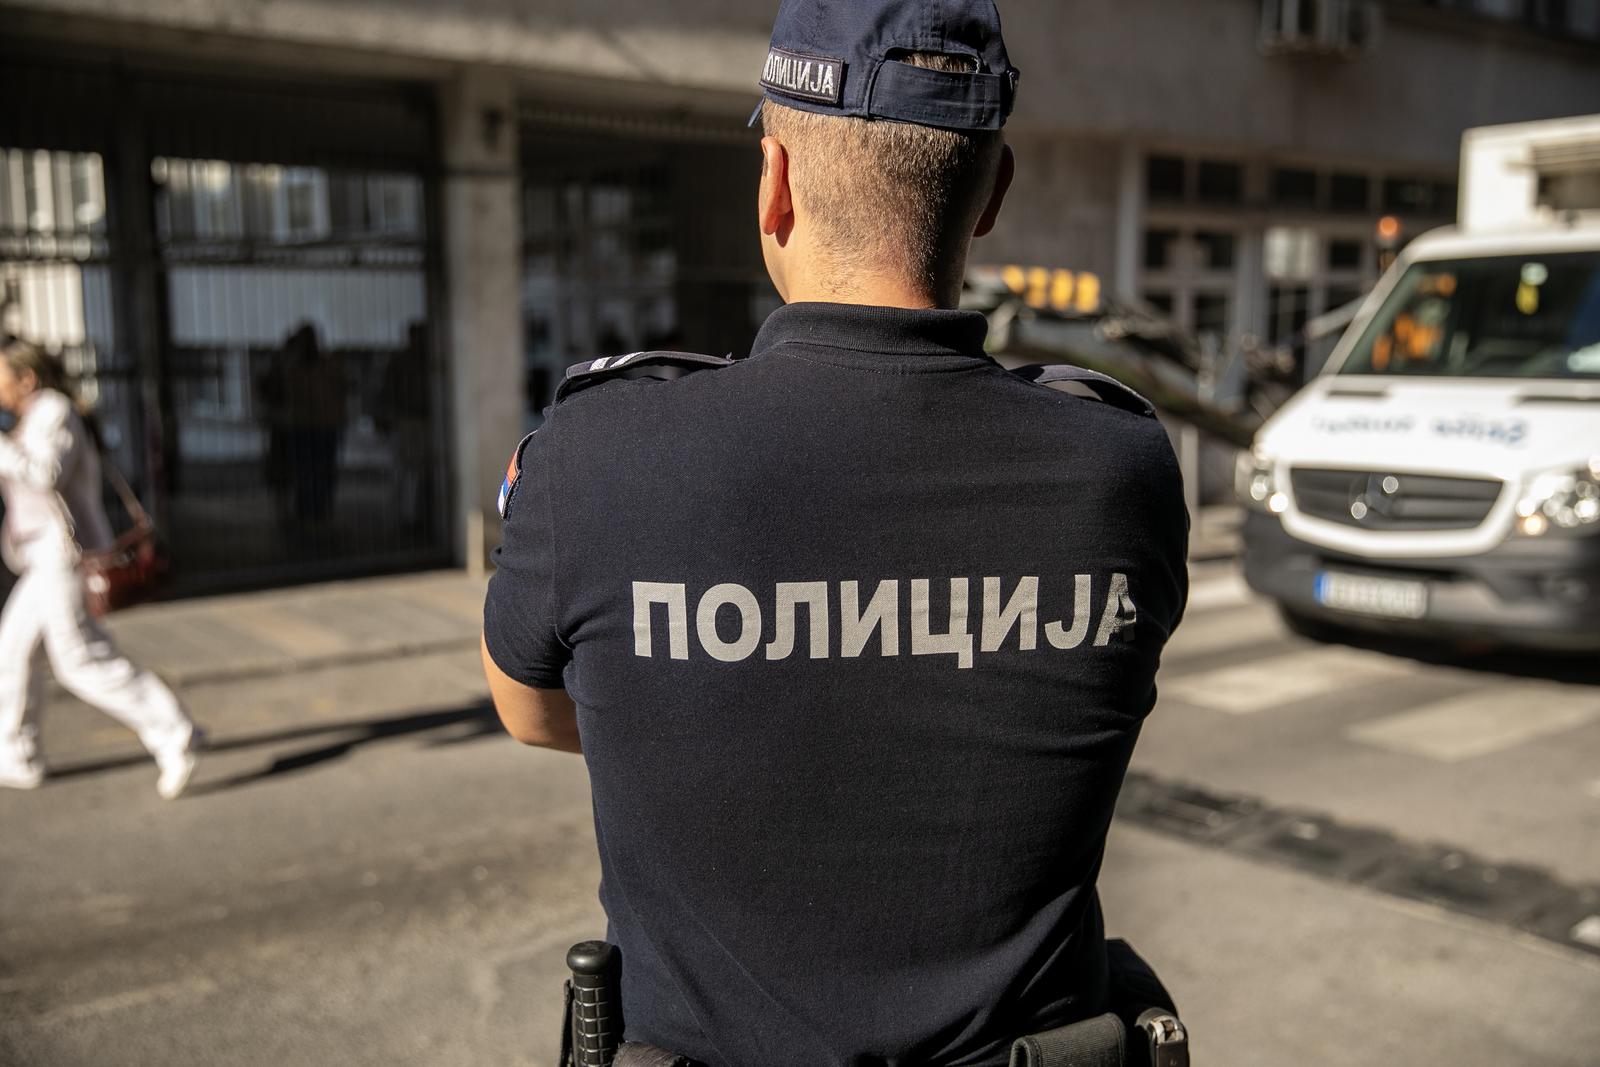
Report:
[[[186,585],[482,565],[597,354],[771,307],[774,5],[0,0],[0,314],[67,355]],[[979,266],[1293,344],[1450,221],[1461,131],[1600,110],[1600,0],[1002,0]],[[1379,222],[1390,237],[1379,238]]]

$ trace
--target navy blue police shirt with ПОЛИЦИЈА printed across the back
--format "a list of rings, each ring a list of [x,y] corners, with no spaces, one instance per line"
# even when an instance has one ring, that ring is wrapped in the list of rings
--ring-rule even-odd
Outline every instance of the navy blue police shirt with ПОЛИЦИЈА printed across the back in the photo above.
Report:
[[[522,448],[494,662],[578,705],[630,1040],[1003,1064],[1098,1014],[1094,880],[1182,613],[1146,414],[952,310],[792,304]]]

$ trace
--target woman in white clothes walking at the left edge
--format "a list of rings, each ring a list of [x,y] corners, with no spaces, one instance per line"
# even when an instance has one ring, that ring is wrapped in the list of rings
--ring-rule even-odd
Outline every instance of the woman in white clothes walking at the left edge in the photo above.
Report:
[[[0,785],[35,789],[42,710],[40,654],[61,685],[133,729],[160,768],[157,792],[176,798],[195,766],[198,729],[173,691],[130,662],[90,616],[83,552],[112,544],[101,502],[101,459],[69,398],[61,362],[21,341],[0,347],[0,549],[18,582],[0,611]]]

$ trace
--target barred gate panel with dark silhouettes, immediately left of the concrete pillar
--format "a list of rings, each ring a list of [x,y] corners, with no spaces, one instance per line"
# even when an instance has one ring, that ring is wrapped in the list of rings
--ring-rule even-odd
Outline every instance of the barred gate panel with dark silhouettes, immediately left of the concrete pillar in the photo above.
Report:
[[[419,176],[157,157],[170,528],[216,573],[438,544]]]

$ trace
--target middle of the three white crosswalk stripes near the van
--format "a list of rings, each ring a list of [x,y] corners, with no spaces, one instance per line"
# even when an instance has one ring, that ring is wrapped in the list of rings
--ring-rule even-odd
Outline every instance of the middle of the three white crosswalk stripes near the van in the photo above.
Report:
[[[1354,648],[1314,648],[1238,667],[1221,667],[1162,683],[1162,696],[1229,715],[1254,715],[1270,707],[1338,693],[1368,681],[1402,677],[1414,664]]]

